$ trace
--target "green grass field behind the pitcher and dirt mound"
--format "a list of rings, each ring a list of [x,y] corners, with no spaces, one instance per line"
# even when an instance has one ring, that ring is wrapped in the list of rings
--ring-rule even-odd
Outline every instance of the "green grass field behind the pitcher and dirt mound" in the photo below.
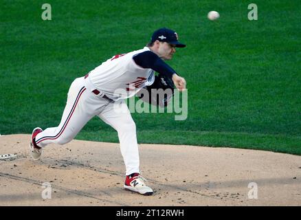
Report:
[[[74,78],[176,30],[168,63],[185,77],[188,118],[132,113],[140,143],[254,148],[301,155],[301,2],[1,1],[0,133],[57,126]],[[249,3],[258,21],[249,21]],[[221,14],[217,21],[207,13]],[[98,118],[76,139],[118,142]]]

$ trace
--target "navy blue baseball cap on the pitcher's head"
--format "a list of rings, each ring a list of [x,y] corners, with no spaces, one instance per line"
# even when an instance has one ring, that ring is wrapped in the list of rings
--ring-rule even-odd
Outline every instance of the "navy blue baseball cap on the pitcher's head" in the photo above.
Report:
[[[153,33],[151,42],[155,41],[167,42],[176,45],[176,47],[186,47],[185,44],[179,43],[177,32],[170,30],[168,28],[160,28]]]

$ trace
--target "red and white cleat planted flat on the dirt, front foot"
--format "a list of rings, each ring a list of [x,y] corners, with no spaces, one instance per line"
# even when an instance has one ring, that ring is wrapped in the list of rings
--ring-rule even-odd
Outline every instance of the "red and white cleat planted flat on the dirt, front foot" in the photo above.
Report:
[[[138,192],[141,195],[152,195],[153,190],[144,184],[144,180],[146,179],[144,179],[139,173],[128,175],[126,176],[124,189]]]

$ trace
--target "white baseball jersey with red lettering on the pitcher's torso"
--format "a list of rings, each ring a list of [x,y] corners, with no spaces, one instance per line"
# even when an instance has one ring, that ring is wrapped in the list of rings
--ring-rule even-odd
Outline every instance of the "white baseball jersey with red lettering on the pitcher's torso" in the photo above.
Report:
[[[133,60],[133,56],[146,51],[149,51],[148,47],[113,56],[89,73],[91,83],[113,100],[134,96],[155,80],[153,69],[142,68]]]

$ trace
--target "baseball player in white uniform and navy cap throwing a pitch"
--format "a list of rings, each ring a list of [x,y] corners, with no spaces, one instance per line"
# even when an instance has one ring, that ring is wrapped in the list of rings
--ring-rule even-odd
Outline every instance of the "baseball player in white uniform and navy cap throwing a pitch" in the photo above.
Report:
[[[60,124],[44,131],[39,127],[32,131],[32,158],[40,159],[47,144],[70,142],[91,118],[98,116],[118,132],[126,166],[124,188],[152,195],[153,190],[140,176],[136,126],[124,99],[134,96],[142,88],[161,87],[162,78],[179,91],[186,89],[186,80],[164,62],[172,59],[176,47],[186,45],[179,43],[175,31],[161,28],[153,33],[150,43],[143,49],[115,55],[89,74],[76,78],[69,88]],[[155,72],[159,77],[155,77]]]

